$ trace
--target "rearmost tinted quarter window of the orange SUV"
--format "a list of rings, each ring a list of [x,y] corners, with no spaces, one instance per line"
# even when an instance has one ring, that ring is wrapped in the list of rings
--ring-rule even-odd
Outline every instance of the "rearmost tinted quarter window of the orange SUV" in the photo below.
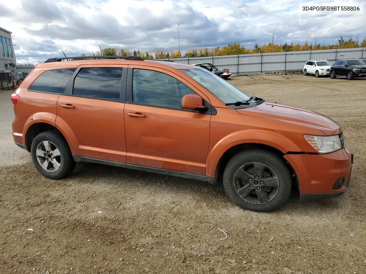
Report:
[[[74,71],[75,68],[45,71],[34,80],[28,90],[62,93]]]

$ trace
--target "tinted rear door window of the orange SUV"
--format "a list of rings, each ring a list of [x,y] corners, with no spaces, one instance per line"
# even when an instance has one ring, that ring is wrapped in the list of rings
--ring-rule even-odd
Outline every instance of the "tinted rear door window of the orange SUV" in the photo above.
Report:
[[[74,80],[73,95],[119,100],[122,68],[82,68]]]

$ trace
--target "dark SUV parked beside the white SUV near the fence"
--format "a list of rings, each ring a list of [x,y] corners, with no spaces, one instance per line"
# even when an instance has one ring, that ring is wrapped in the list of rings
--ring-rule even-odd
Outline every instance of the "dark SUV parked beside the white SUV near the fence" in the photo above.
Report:
[[[366,77],[366,63],[361,59],[337,60],[330,67],[330,78],[335,79],[336,76],[344,76],[348,80],[353,80],[354,77]]]

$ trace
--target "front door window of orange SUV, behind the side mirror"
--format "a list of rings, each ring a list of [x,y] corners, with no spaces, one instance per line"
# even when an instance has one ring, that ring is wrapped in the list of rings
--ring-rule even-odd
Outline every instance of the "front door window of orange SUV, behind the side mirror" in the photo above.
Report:
[[[146,69],[133,71],[133,102],[180,109],[182,97],[186,94],[196,93],[165,73]]]

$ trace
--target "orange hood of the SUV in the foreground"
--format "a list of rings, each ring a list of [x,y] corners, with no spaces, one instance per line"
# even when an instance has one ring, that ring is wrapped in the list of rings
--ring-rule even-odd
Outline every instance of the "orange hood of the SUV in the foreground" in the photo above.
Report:
[[[320,113],[273,102],[264,102],[254,107],[237,109],[240,114],[262,117],[286,123],[303,125],[321,130],[325,135],[335,135],[342,131],[341,126]],[[306,133],[306,132],[304,132]]]

